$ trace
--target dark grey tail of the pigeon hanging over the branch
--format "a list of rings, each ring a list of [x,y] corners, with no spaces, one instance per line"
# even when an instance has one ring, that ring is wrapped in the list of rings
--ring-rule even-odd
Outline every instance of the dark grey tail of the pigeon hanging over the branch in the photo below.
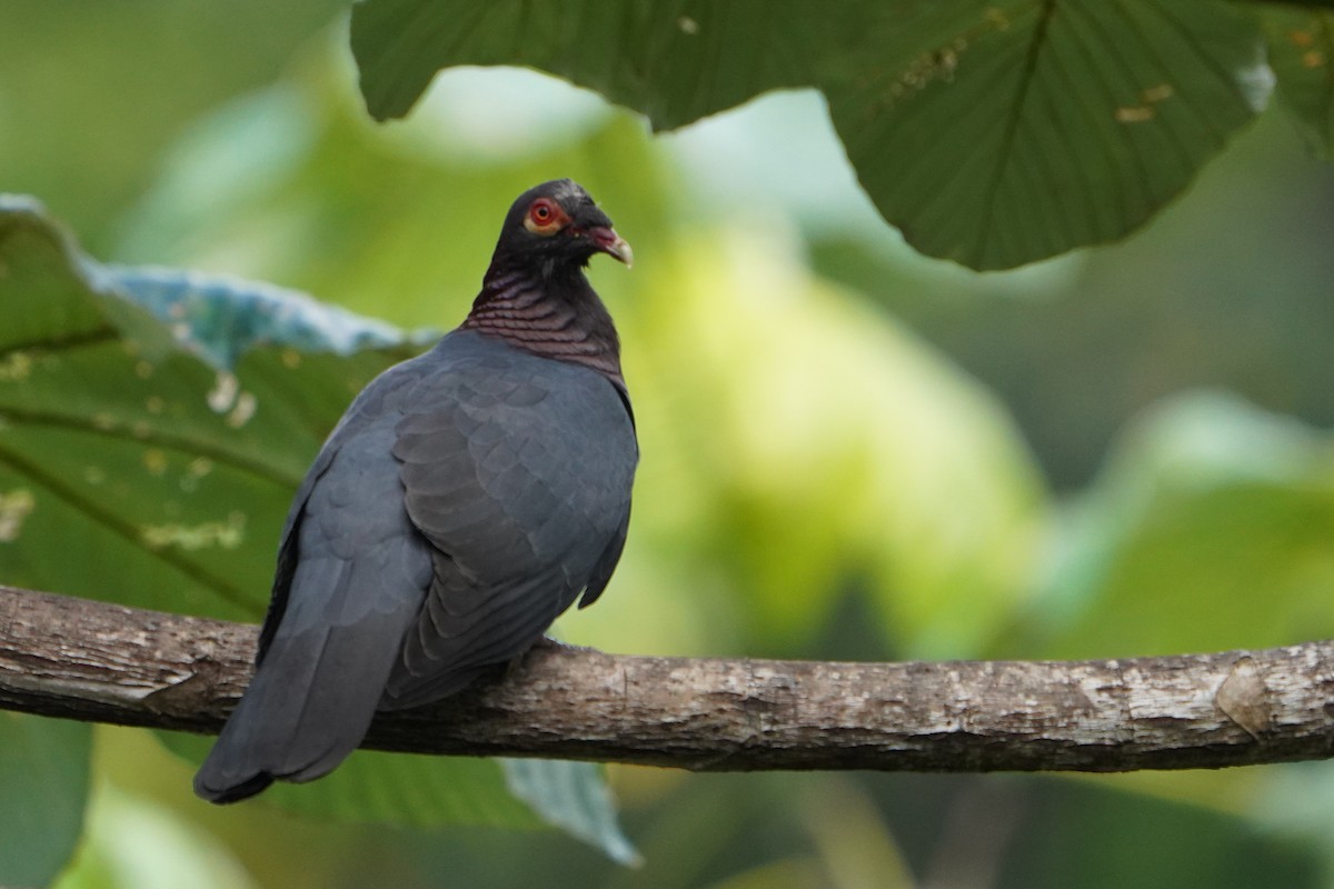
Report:
[[[366,737],[411,613],[355,626],[279,628],[240,704],[195,774],[195,793],[236,802],[275,780],[328,773]]]

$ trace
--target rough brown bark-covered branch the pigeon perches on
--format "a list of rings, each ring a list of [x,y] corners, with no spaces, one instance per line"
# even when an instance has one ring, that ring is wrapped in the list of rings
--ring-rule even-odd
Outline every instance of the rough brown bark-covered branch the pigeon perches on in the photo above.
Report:
[[[0,586],[0,708],[216,733],[256,628]],[[1119,661],[626,657],[544,645],[366,745],[696,770],[1185,769],[1334,754],[1334,642]]]

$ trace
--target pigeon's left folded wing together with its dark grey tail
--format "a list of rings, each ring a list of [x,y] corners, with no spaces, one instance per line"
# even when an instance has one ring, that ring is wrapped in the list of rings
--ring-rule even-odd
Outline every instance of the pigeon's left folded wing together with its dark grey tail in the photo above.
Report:
[[[273,778],[319,777],[366,734],[432,577],[390,453],[416,376],[408,367],[368,387],[307,474],[280,546],[263,657],[195,778],[200,796],[225,802]]]

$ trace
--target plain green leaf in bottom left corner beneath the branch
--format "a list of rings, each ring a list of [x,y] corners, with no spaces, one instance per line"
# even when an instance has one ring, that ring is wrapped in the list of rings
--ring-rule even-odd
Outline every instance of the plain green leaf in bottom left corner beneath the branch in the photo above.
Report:
[[[0,885],[45,886],[73,854],[92,726],[0,712]]]

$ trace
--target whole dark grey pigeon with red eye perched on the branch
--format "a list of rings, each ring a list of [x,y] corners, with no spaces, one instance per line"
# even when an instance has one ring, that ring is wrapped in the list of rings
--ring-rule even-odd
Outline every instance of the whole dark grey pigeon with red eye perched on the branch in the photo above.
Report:
[[[632,261],[580,185],[524,192],[463,324],[352,401],[292,501],[200,797],[327,774],[376,712],[459,692],[602,594],[639,445],[596,253]]]

